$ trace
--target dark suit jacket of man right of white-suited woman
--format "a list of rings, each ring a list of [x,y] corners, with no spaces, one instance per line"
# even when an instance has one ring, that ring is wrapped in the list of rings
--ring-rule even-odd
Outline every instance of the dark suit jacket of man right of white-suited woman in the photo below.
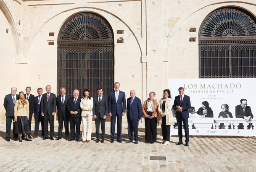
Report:
[[[103,118],[104,115],[106,115],[106,116],[108,115],[108,100],[107,100],[106,96],[102,96],[102,99],[99,104],[98,97],[99,96],[96,96],[93,99],[92,114],[96,115],[97,118],[98,117]],[[99,115],[99,111],[100,111],[100,115]]]

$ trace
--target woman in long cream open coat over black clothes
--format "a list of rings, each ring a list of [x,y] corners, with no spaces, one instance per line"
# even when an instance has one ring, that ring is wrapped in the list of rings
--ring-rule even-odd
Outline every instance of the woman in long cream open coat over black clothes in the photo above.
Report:
[[[160,99],[158,104],[158,125],[161,125],[162,135],[163,135],[163,144],[164,146],[169,145],[170,141],[170,127],[173,125],[173,117],[172,117],[172,99],[171,99],[171,91],[169,89],[165,89],[164,97]]]

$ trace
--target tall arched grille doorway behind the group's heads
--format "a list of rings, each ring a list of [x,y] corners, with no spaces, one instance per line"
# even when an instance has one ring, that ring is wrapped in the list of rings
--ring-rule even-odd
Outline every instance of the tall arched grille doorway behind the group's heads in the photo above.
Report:
[[[108,95],[113,87],[113,30],[110,24],[95,13],[71,16],[58,35],[57,88],[66,87],[72,95],[78,89],[90,89],[92,96],[103,89]]]

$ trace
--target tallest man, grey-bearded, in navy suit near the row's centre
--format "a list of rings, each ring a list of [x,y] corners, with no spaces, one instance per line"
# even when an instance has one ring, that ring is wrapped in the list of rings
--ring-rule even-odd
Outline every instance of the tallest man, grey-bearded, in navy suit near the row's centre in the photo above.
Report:
[[[116,127],[116,117],[117,117],[117,141],[122,143],[122,117],[125,113],[125,93],[120,91],[120,83],[115,82],[115,91],[111,91],[108,96],[108,112],[111,116],[111,127],[110,127],[110,136],[111,143],[114,143],[115,140],[115,127]]]

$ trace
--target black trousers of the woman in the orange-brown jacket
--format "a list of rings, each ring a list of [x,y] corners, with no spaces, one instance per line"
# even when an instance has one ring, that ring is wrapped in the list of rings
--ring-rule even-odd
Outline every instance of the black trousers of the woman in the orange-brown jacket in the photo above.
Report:
[[[148,115],[152,115],[152,112],[148,112]],[[156,121],[157,118],[148,119],[145,117],[145,142],[156,142]]]

